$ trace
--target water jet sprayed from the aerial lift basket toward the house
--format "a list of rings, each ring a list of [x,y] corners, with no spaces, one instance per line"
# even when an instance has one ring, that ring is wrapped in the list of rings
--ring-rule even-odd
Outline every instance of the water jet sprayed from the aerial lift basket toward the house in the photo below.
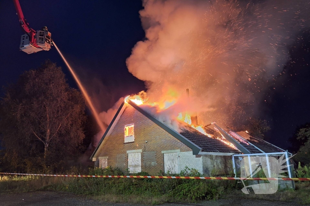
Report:
[[[58,53],[60,54],[61,58],[64,60],[64,63],[67,65],[67,67],[69,68],[73,78],[75,79],[75,81],[78,83],[78,87],[80,88],[80,90],[82,91],[89,107],[91,108],[91,112],[93,113],[93,115],[95,116],[95,119],[97,121],[97,124],[99,125],[100,129],[102,132],[105,131],[105,127],[103,125],[103,123],[101,122],[99,116],[98,116],[98,113],[97,111],[95,110],[95,107],[93,105],[93,103],[91,102],[91,99],[90,97],[88,96],[85,88],[82,86],[82,83],[80,81],[80,79],[78,78],[78,76],[75,74],[75,72],[73,71],[73,69],[71,68],[71,66],[69,65],[69,63],[67,62],[67,60],[64,58],[64,56],[62,55],[62,53],[60,52],[59,48],[56,46],[55,42],[53,42],[55,48],[57,49]]]

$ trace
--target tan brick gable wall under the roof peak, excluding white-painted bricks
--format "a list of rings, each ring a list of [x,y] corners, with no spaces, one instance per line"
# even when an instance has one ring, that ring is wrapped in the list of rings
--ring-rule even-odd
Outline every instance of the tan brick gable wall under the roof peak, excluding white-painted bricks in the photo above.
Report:
[[[133,123],[135,124],[135,141],[124,143],[124,126]],[[127,173],[127,150],[135,149],[142,149],[141,170],[151,175],[158,174],[160,170],[164,171],[162,150],[180,149],[180,152],[192,152],[188,146],[153,123],[131,105],[127,105],[98,157],[108,156],[108,166],[117,167]],[[98,157],[95,166],[99,166]]]

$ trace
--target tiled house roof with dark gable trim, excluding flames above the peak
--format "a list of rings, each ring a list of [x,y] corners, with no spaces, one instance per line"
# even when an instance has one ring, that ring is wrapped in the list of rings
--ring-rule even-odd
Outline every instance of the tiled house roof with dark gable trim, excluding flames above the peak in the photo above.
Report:
[[[100,150],[102,149],[105,140],[105,137],[108,137],[112,132],[114,126],[116,125],[117,121],[119,120],[120,116],[122,115],[123,111],[125,110],[126,106],[131,105],[136,110],[138,110],[141,114],[146,116],[149,120],[153,121],[159,127],[164,129],[170,135],[187,145],[189,148],[193,150],[193,154],[212,154],[212,155],[232,155],[235,153],[244,153],[244,154],[253,154],[253,153],[273,153],[273,152],[285,152],[285,150],[272,145],[262,139],[251,137],[249,139],[245,139],[241,137],[236,132],[230,130],[230,132],[224,131],[222,128],[213,124],[215,130],[205,127],[204,129],[208,134],[211,134],[213,138],[208,137],[196,129],[191,127],[183,128],[180,133],[176,132],[175,130],[168,127],[166,124],[162,123],[161,121],[157,120],[152,114],[148,113],[147,111],[140,108],[138,105],[133,103],[131,100],[124,101],[118,111],[116,112],[113,120],[111,121],[110,125],[108,126],[107,130],[104,132],[103,137],[101,138],[100,142],[98,143],[95,151],[91,155],[91,158],[96,158],[99,154]],[[229,146],[225,144],[221,139],[224,137],[227,141],[229,141],[233,146]],[[291,153],[290,153],[291,154]]]

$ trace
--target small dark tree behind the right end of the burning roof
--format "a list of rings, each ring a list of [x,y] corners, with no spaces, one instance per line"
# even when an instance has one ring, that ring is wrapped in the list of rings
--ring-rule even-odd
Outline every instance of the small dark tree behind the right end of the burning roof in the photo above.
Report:
[[[270,130],[266,120],[259,118],[250,118],[249,123],[246,126],[246,130],[254,137],[264,138],[264,133]]]

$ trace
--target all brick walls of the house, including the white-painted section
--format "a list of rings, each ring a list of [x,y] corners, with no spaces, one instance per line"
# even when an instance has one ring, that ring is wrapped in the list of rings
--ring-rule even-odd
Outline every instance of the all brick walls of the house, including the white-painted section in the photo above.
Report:
[[[128,124],[135,125],[135,141],[124,143],[124,126]],[[126,174],[128,172],[127,151],[138,149],[142,150],[141,171],[151,175],[157,175],[160,170],[164,171],[162,153],[164,150],[179,150],[179,171],[184,170],[186,166],[195,168],[204,175],[210,175],[211,171],[228,174],[232,170],[231,156],[193,155],[192,149],[129,104],[107,137],[95,161],[95,167],[99,166],[99,157],[105,157],[108,159],[108,166],[119,168]]]

